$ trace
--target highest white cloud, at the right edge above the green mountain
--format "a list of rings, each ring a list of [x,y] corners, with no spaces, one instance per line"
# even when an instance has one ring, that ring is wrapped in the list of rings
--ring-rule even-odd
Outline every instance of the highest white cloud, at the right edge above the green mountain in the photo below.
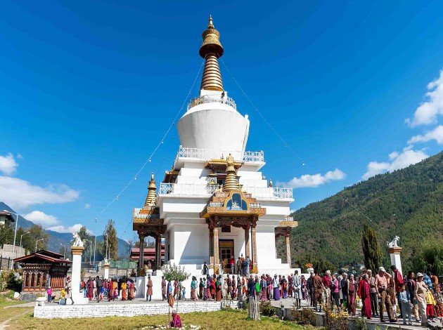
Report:
[[[428,84],[428,101],[420,104],[412,119],[406,119],[411,127],[437,123],[437,117],[443,114],[443,70],[440,76]]]

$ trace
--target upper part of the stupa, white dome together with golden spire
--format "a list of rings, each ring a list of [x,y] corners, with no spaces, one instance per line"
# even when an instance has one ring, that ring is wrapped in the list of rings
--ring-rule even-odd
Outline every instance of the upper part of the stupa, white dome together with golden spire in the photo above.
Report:
[[[224,91],[217,60],[224,53],[219,37],[210,16],[200,47],[200,56],[205,58],[200,95],[191,101],[179,120],[180,144],[189,148],[243,152],[249,119],[237,112],[236,103]]]

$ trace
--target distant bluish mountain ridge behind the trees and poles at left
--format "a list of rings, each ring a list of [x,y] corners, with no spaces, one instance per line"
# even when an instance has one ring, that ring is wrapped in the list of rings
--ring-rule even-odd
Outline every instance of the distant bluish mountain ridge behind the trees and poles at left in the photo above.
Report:
[[[11,207],[9,207],[4,202],[0,202],[0,210],[6,210],[9,212],[14,212]],[[15,215],[13,216],[15,219]],[[23,218],[23,216],[18,216],[18,227],[23,227],[23,229],[28,229],[32,227],[34,223],[30,220],[26,220]],[[69,249],[70,243],[72,242],[72,234],[70,232],[54,232],[53,230],[44,230],[45,232],[49,233],[51,235],[51,238],[48,242],[48,249],[51,251],[60,251],[60,248],[62,247],[60,244],[63,244],[66,246],[67,249]],[[98,242],[103,241],[103,235],[99,235],[96,237],[96,244]],[[128,244],[123,239],[118,239],[118,254],[121,258],[127,258],[129,256],[129,249]]]

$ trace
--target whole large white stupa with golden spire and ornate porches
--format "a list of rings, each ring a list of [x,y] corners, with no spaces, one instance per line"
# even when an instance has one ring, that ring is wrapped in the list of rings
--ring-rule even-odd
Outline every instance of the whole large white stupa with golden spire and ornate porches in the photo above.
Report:
[[[263,151],[245,151],[250,122],[224,91],[217,60],[223,51],[210,18],[200,47],[200,95],[179,120],[181,145],[172,171],[157,196],[151,178],[145,206],[134,209],[134,230],[141,242],[148,235],[157,238],[157,246],[161,235],[165,263],[183,265],[196,276],[205,261],[211,272],[221,273],[227,271],[224,260],[241,254],[250,256],[252,272],[288,275],[290,227],[297,225],[289,217],[293,191],[264,179]],[[286,237],[288,263],[276,258],[279,235]]]

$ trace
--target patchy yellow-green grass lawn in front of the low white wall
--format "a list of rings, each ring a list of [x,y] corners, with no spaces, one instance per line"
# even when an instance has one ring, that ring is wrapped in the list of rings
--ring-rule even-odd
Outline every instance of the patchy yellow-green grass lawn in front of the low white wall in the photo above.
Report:
[[[11,309],[11,308],[9,308]],[[82,319],[34,319],[33,308],[13,308],[19,315],[8,323],[9,329],[142,329],[145,326],[166,325],[167,315],[139,316],[139,317],[103,317]],[[3,310],[2,310],[3,312]],[[248,312],[219,311],[195,312],[182,314],[181,321],[185,326],[191,324],[201,326],[201,329],[314,329],[305,328],[291,322],[280,322],[278,319],[262,317],[259,322],[248,320]]]

